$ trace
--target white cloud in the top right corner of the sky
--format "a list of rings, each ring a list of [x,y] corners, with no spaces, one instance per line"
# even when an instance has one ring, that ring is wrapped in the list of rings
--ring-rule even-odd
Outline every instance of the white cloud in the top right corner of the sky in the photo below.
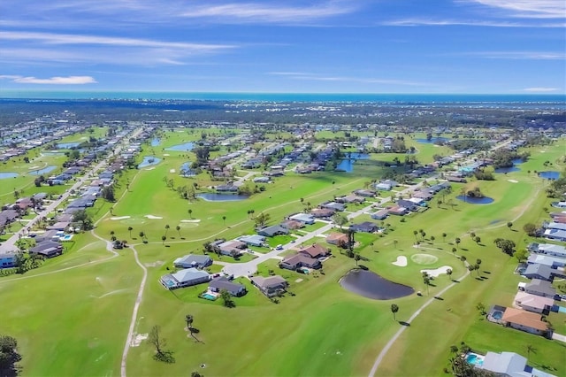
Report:
[[[486,5],[505,11],[510,17],[525,19],[564,19],[566,2],[563,0],[460,0]]]

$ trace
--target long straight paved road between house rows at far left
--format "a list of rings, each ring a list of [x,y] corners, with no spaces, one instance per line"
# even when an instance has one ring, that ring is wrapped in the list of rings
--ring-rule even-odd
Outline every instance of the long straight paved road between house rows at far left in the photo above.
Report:
[[[47,217],[50,214],[50,212],[54,212],[57,209],[57,206],[59,204],[63,203],[63,201],[71,195],[71,192],[73,190],[77,191],[80,188],[80,186],[82,186],[85,183],[85,181],[87,181],[89,178],[91,178],[93,176],[93,174],[96,173],[96,171],[101,169],[103,167],[103,165],[105,165],[108,162],[109,158],[111,158],[114,155],[119,154],[119,152],[122,150],[122,148],[128,144],[127,141],[129,140],[130,137],[136,137],[137,135],[140,135],[141,132],[142,132],[142,128],[138,128],[134,131],[132,136],[125,136],[123,144],[119,145],[114,150],[114,152],[111,156],[109,156],[108,158],[104,158],[101,162],[96,164],[95,167],[90,169],[88,171],[88,173],[85,173],[80,178],[79,181],[76,181],[73,184],[73,186],[71,188],[68,188],[57,200],[53,201],[51,204],[49,204],[47,207],[45,207],[41,212],[38,212],[37,215],[34,217],[34,219],[30,219],[24,227],[19,229],[18,232],[14,233],[13,235],[11,235],[11,237],[8,240],[3,242],[2,245],[0,245],[0,253],[18,250],[18,248],[16,247],[16,242],[18,242],[20,235],[26,235],[29,232],[29,230],[32,229],[34,227],[34,225],[40,219],[42,219],[43,217]]]

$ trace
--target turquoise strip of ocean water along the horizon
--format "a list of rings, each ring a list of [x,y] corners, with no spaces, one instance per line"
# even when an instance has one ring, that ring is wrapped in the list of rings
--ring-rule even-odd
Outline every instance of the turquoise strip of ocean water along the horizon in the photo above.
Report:
[[[200,100],[250,102],[319,102],[382,104],[463,104],[489,107],[566,108],[566,95],[549,94],[371,94],[371,93],[220,93],[159,91],[51,91],[2,90],[0,98],[29,100],[127,99],[127,100]]]

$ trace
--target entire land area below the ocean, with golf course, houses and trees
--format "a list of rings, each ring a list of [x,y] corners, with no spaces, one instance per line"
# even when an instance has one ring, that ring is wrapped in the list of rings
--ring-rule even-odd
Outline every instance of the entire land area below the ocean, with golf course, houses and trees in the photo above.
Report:
[[[6,368],[565,375],[566,121],[493,106],[0,100]]]

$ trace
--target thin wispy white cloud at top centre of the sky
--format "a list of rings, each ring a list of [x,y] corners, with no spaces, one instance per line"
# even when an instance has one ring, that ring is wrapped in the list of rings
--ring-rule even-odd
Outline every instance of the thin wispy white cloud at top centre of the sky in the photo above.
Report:
[[[283,2],[285,4],[286,2]],[[183,12],[182,16],[189,18],[212,18],[225,22],[304,22],[325,19],[353,12],[351,4],[343,5],[339,2],[314,4],[310,6],[285,6],[262,3],[230,3],[191,7],[190,11]]]

